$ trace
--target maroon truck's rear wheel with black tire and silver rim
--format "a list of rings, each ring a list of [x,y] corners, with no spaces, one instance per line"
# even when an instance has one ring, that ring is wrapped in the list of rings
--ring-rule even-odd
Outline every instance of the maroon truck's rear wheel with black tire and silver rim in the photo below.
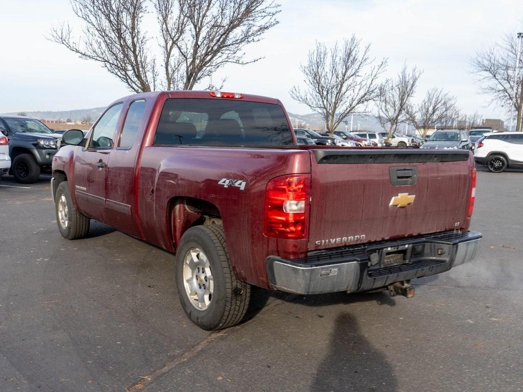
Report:
[[[207,275],[204,275],[201,279],[202,275],[196,274],[194,269],[194,273],[191,274],[191,267],[186,262],[186,258],[191,258],[191,253],[194,252],[197,253],[199,262],[201,260],[204,260],[203,263],[208,262],[212,276],[212,295],[207,294],[209,303],[204,304],[205,308],[200,308],[199,299],[190,298],[191,294],[189,294],[191,284],[197,284],[201,290],[203,284],[208,282]],[[201,253],[203,253],[203,256]],[[187,277],[185,278],[184,264],[187,264],[185,266]],[[181,306],[197,326],[206,330],[217,330],[232,327],[242,321],[249,306],[251,285],[237,280],[234,276],[222,226],[209,225],[189,228],[181,237],[176,250],[175,270]],[[200,273],[199,269],[197,271]],[[204,269],[201,269],[201,271],[204,271]],[[209,270],[205,273],[209,273]],[[198,287],[192,287],[198,290]],[[192,295],[198,296],[196,291],[192,293]]]

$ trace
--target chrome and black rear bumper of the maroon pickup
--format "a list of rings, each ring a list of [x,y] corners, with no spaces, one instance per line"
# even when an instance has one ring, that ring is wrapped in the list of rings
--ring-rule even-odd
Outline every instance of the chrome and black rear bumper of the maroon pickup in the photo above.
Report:
[[[331,251],[311,252],[304,259],[269,256],[272,289],[295,294],[357,292],[435,275],[471,261],[481,233],[440,233]],[[403,252],[405,263],[384,266],[388,252]]]

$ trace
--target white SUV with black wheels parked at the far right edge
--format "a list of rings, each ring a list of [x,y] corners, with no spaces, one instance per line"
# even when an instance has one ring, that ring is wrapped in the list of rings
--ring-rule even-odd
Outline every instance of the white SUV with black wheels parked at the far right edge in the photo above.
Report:
[[[487,133],[477,141],[474,160],[495,173],[523,168],[523,132]]]

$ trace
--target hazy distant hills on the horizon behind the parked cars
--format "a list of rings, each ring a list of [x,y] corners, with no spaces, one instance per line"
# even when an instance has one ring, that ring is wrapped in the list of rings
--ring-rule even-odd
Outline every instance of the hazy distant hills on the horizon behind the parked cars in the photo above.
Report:
[[[74,110],[56,110],[56,111],[26,111],[28,117],[34,117],[37,119],[46,119],[46,120],[65,120],[71,119],[73,121],[82,121],[87,116],[94,121],[100,116],[104,111],[105,107],[100,108],[91,108],[91,109],[74,109]],[[17,114],[17,112],[4,113],[4,114]],[[309,114],[295,114],[289,112],[289,117],[292,121],[292,125],[296,127],[298,121],[298,128],[311,128],[315,130],[323,131],[325,129],[325,123],[323,122],[320,114],[309,113]],[[368,116],[354,116],[353,120],[353,131],[358,129],[365,131],[382,131],[380,123],[376,117],[369,114]],[[339,126],[339,129],[345,129],[347,125],[347,130],[350,130],[350,116],[347,118],[347,124],[342,123]]]

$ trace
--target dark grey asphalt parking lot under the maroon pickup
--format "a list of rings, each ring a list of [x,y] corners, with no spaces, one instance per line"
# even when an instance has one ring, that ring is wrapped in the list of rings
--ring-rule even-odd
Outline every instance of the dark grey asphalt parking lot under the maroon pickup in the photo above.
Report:
[[[98,223],[65,240],[48,177],[3,178],[0,391],[523,390],[522,206],[522,171],[480,168],[476,260],[415,281],[414,298],[272,294],[206,332],[172,255]]]

